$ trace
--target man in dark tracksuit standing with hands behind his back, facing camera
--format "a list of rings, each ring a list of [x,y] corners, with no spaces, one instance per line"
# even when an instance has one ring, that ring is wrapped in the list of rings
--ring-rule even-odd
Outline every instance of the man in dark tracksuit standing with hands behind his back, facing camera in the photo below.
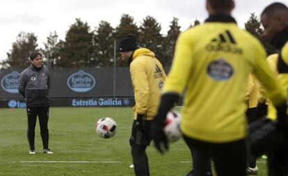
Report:
[[[19,77],[19,93],[26,100],[26,112],[28,116],[27,138],[30,145],[29,154],[35,154],[34,138],[37,116],[40,124],[40,134],[43,144],[43,152],[53,154],[49,150],[49,70],[42,65],[42,55],[33,52],[30,55],[31,65],[24,70]]]

